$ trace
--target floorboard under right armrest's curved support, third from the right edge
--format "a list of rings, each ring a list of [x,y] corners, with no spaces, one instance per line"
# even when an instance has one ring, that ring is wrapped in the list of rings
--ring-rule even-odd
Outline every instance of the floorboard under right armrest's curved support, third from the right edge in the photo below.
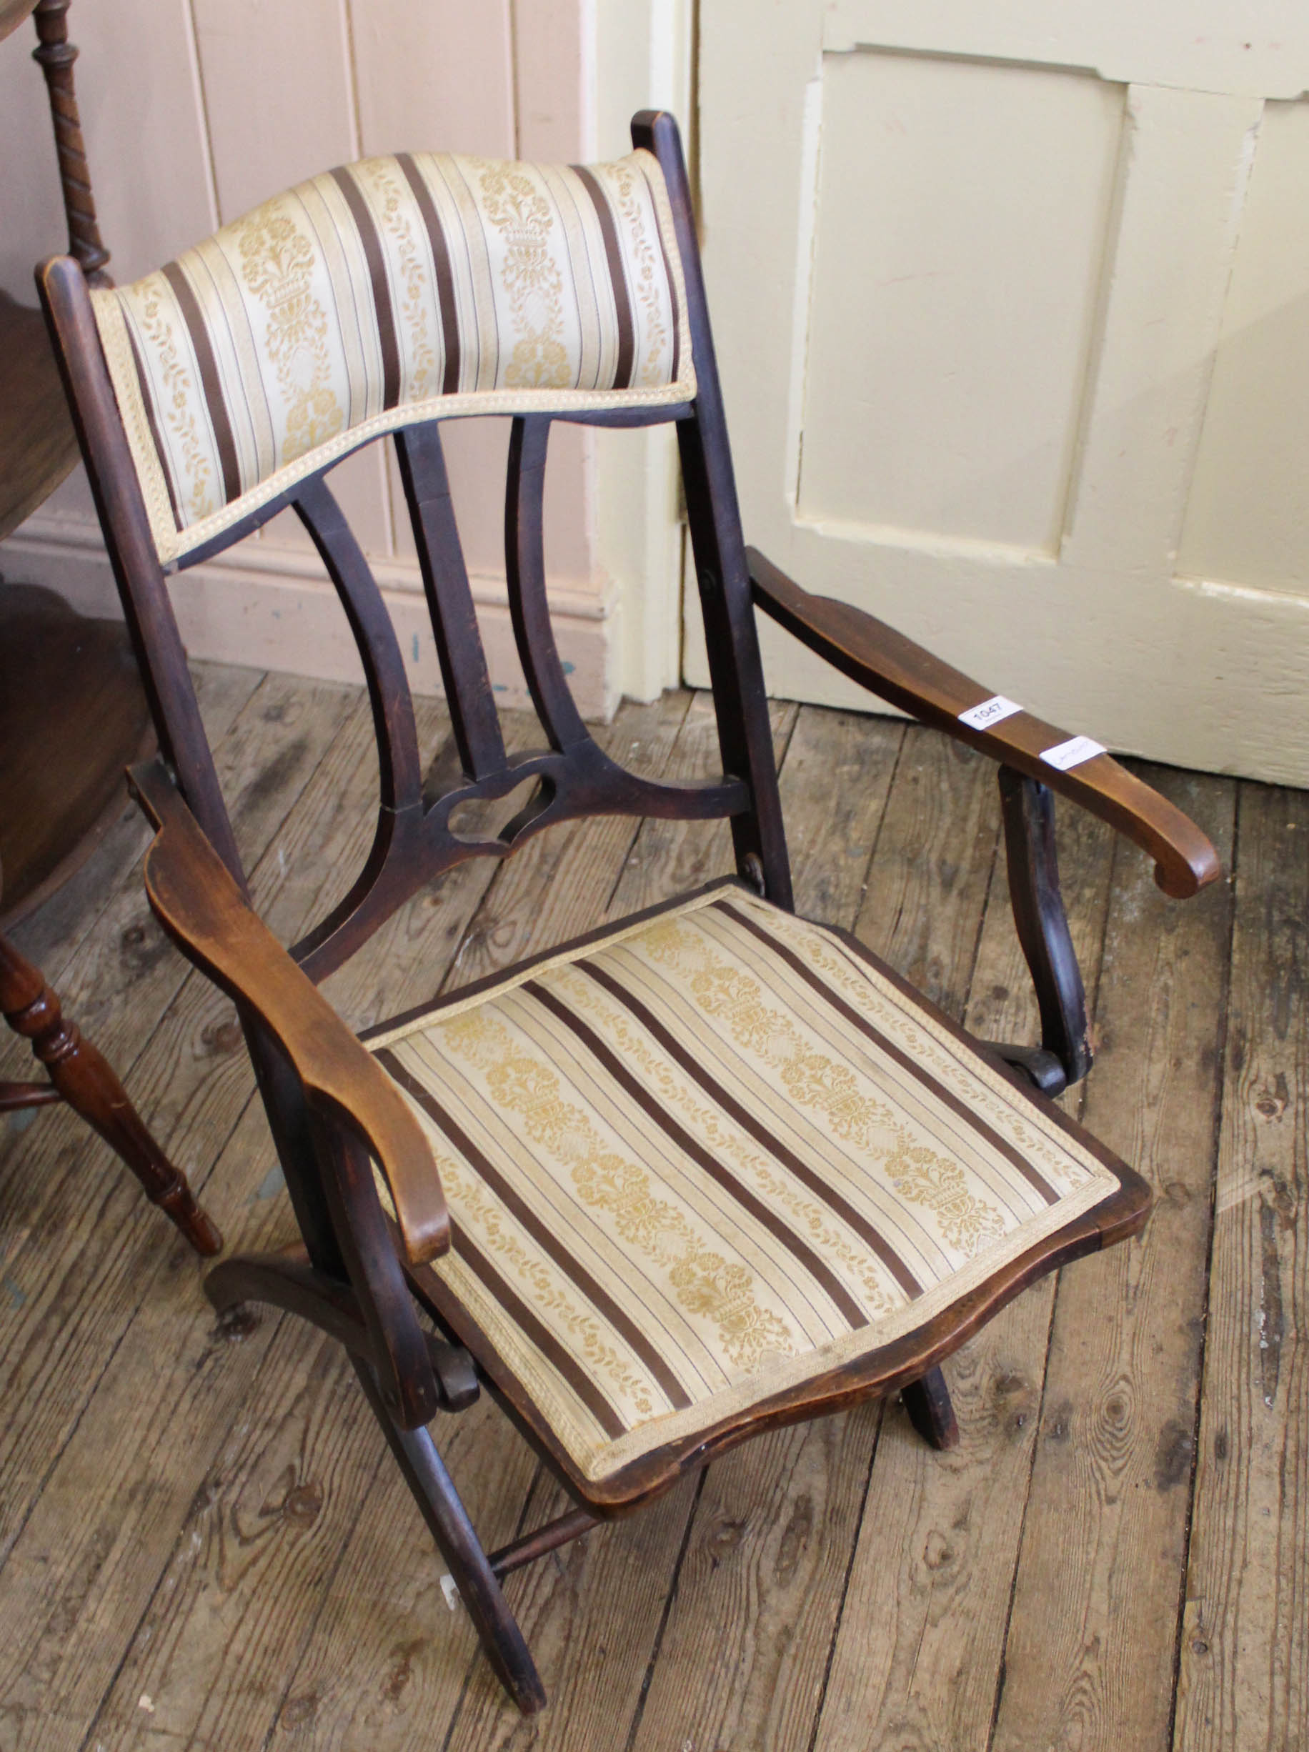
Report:
[[[1093,1002],[1113,834],[1071,813],[1060,834],[1064,899]],[[1009,915],[1004,848],[973,967],[969,1028],[1039,1034]],[[1065,1097],[1076,1113],[1079,1091]],[[1044,1384],[1053,1279],[1034,1284],[946,1365],[960,1444],[934,1454],[899,1407],[887,1414],[859,1533],[817,1752],[857,1745],[985,1748],[1004,1657]]]

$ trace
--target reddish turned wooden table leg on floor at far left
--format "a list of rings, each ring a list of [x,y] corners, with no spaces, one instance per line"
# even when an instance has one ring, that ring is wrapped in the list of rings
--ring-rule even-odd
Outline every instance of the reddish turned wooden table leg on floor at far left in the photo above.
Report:
[[[103,1055],[82,1039],[75,1023],[65,1021],[40,971],[5,937],[0,937],[0,1011],[16,1034],[32,1041],[63,1100],[126,1162],[151,1204],[172,1218],[196,1253],[217,1253],[223,1237],[196,1204],[186,1176],[145,1130]]]

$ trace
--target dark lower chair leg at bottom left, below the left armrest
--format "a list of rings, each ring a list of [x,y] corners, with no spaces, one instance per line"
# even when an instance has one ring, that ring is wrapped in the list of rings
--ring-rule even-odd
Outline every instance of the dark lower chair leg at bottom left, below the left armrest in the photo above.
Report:
[[[449,1565],[496,1678],[524,1715],[534,1715],[545,1705],[545,1687],[436,1444],[428,1430],[403,1430],[382,1400],[370,1365],[361,1358],[350,1361],[436,1549]]]

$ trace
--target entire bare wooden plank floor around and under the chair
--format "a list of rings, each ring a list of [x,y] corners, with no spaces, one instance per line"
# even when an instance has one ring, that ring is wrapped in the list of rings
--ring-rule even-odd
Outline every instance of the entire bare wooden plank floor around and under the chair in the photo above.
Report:
[[[289,941],[366,853],[366,704],[217,666],[198,687]],[[780,704],[773,729],[801,909],[974,1032],[1034,1039],[988,764],[899,720]],[[447,731],[422,704],[424,748]],[[720,760],[703,696],[627,704],[605,741],[666,778]],[[866,1405],[512,1577],[552,1699],[531,1724],[447,1607],[335,1347],[270,1310],[219,1326],[184,1244],[74,1116],[5,1125],[0,1752],[1309,1743],[1309,806],[1148,776],[1232,885],[1176,906],[1130,846],[1060,813],[1099,1048],[1067,1104],[1155,1184],[1144,1237],[1036,1286],[946,1365],[952,1454],[899,1403]],[[145,843],[124,811],[18,936],[230,1240],[272,1246],[289,1214],[235,1011],[154,927]],[[722,823],[566,825],[447,872],[328,992],[363,1027],[727,869]],[[19,1055],[4,1044],[11,1074]],[[489,1400],[436,1435],[487,1544],[564,1507]]]

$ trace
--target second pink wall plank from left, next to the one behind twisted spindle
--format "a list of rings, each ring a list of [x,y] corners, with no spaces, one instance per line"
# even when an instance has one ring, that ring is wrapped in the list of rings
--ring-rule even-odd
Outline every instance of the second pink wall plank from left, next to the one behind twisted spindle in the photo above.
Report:
[[[359,156],[343,0],[193,0],[219,219]],[[331,487],[364,550],[387,554],[391,517],[380,447],[347,457]],[[263,536],[303,547],[284,513]]]

